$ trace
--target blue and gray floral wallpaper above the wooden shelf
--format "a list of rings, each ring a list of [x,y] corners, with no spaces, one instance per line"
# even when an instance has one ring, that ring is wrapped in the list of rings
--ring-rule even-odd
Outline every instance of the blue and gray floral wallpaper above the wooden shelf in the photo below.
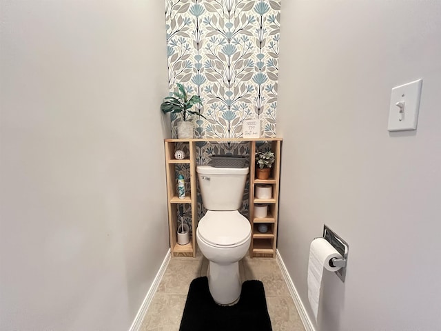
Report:
[[[165,0],[165,17],[170,91],[203,100],[196,137],[242,137],[244,119],[274,137],[280,0]]]

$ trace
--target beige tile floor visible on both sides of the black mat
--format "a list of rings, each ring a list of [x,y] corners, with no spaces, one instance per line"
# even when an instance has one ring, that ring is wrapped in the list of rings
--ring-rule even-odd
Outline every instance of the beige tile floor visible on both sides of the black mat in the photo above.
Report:
[[[190,282],[206,276],[208,261],[198,252],[196,258],[172,257],[141,331],[178,331]],[[263,282],[273,331],[305,331],[276,259],[245,257],[239,262],[243,281]]]

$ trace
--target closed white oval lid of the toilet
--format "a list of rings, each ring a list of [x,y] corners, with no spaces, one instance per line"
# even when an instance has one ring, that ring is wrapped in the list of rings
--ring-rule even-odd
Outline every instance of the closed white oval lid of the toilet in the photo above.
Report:
[[[251,225],[237,210],[208,210],[199,221],[198,234],[203,241],[212,245],[238,245],[251,235]]]

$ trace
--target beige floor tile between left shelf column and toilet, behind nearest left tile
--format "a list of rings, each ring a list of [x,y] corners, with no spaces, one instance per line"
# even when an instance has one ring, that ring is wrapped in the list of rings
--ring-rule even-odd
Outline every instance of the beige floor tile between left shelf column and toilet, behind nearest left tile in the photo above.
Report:
[[[161,294],[187,294],[190,283],[201,274],[202,259],[187,260],[172,257],[165,270],[158,293]]]

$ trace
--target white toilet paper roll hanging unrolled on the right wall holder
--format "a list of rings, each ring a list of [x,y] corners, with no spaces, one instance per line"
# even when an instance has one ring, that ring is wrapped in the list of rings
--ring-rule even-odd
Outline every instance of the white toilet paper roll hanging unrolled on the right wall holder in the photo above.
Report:
[[[323,270],[337,271],[341,268],[331,267],[329,262],[334,258],[342,259],[342,256],[326,239],[317,238],[311,242],[308,263],[308,299],[316,320]]]

